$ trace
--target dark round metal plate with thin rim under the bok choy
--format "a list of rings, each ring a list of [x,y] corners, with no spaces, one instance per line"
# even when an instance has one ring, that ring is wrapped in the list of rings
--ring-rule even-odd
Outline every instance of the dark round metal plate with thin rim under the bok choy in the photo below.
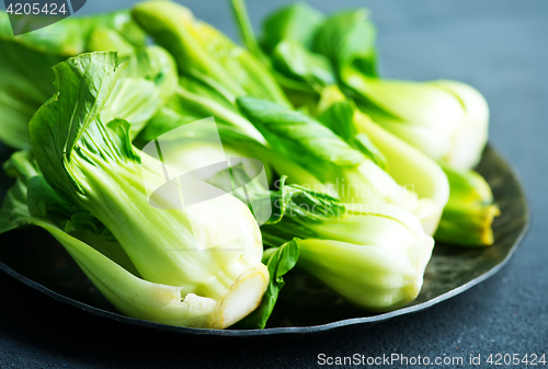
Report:
[[[523,187],[517,175],[491,147],[486,149],[478,171],[491,185],[502,212],[493,223],[494,245],[475,249],[437,244],[426,268],[419,298],[410,305],[389,313],[368,314],[306,276],[292,273],[271,319],[271,326],[265,330],[184,328],[126,318],[116,313],[62,246],[46,232],[35,229],[13,231],[0,237],[0,269],[56,300],[92,314],[124,324],[185,335],[302,335],[367,325],[447,300],[491,277],[510,260],[525,234],[529,220]],[[2,180],[0,193],[8,185]]]

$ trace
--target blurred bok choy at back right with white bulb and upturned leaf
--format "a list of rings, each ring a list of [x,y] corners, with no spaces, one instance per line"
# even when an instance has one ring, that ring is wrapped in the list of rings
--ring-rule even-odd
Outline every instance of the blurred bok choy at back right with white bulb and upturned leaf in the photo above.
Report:
[[[454,81],[378,78],[375,37],[365,11],[339,13],[318,27],[312,49],[331,60],[345,93],[385,129],[457,170],[478,164],[489,120],[481,94]]]

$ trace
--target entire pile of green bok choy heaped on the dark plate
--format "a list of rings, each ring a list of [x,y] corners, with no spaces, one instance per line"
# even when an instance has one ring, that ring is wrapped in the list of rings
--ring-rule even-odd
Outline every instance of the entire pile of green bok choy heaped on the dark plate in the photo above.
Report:
[[[478,91],[379,77],[366,10],[290,4],[258,39],[232,8],[244,47],[169,1],[18,37],[1,13],[0,233],[43,228],[122,313],[205,328],[265,327],[297,269],[398,309],[435,242],[493,243]]]

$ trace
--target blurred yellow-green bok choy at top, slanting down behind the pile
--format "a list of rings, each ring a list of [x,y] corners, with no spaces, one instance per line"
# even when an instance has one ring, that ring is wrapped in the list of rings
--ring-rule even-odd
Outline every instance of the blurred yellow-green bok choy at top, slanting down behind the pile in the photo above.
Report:
[[[133,10],[136,22],[168,49],[183,76],[192,76],[219,91],[255,96],[288,105],[269,70],[248,50],[237,46],[191,11],[171,1],[149,1]]]

